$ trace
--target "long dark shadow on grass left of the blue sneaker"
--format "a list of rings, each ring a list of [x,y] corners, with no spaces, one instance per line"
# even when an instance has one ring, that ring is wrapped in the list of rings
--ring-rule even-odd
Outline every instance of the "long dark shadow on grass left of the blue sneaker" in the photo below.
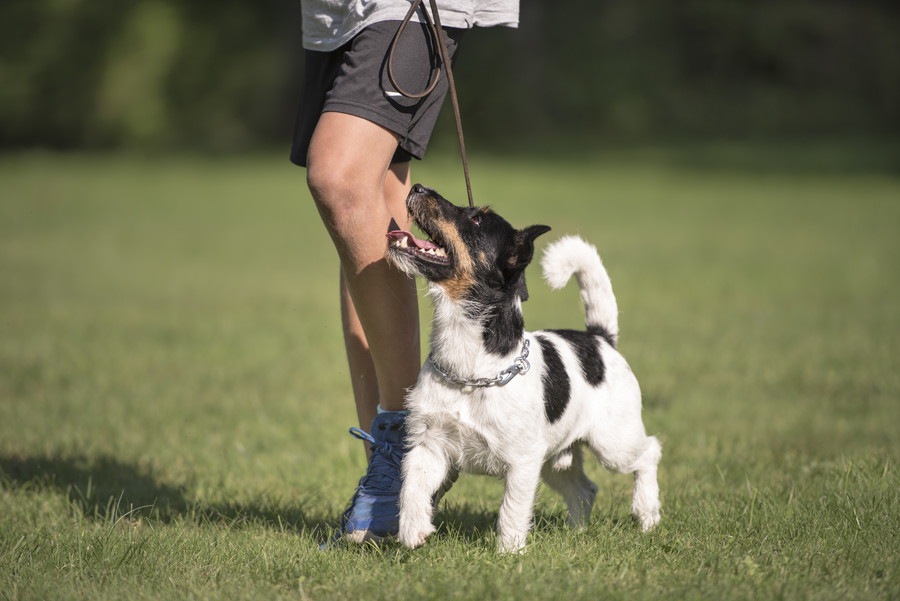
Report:
[[[0,457],[0,485],[23,490],[54,490],[91,520],[122,517],[168,523],[258,525],[288,532],[328,532],[334,516],[308,511],[305,501],[291,507],[261,499],[251,504],[204,504],[190,500],[184,487],[163,482],[152,470],[111,457],[19,455]]]

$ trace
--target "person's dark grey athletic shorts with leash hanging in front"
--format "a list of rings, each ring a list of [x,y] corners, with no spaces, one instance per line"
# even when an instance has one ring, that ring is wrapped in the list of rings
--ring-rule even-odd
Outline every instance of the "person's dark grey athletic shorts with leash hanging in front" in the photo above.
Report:
[[[442,73],[434,91],[419,100],[396,93],[388,79],[387,56],[399,25],[399,21],[375,23],[337,50],[306,51],[303,94],[291,147],[293,163],[306,166],[309,142],[319,116],[329,111],[355,115],[396,133],[399,143],[392,163],[424,156],[447,94],[447,78]],[[455,56],[464,31],[444,29],[451,57]],[[423,91],[439,56],[425,27],[410,23],[394,53],[397,84],[407,92]]]

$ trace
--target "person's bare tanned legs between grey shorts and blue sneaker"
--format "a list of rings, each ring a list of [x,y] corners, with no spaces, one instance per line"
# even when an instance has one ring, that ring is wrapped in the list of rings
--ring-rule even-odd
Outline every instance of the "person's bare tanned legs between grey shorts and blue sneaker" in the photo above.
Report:
[[[396,136],[343,113],[324,113],[307,180],[341,261],[342,321],[357,414],[400,410],[419,371],[415,282],[384,259],[391,218],[407,226],[408,163],[391,165]]]

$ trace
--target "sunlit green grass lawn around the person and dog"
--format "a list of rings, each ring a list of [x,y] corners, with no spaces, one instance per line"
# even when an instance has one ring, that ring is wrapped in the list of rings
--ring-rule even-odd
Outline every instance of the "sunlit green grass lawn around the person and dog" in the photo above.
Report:
[[[657,530],[592,463],[589,528],[542,491],[501,558],[472,476],[423,549],[317,549],[363,456],[301,171],[0,158],[0,598],[900,598],[900,179],[757,163],[473,158],[480,202],[598,245],[664,443]],[[464,199],[452,158],[416,177]]]

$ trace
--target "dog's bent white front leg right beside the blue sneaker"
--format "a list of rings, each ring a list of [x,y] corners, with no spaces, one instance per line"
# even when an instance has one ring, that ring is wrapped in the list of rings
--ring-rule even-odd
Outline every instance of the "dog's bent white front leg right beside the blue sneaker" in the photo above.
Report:
[[[400,489],[400,542],[415,549],[432,532],[432,497],[448,473],[447,458],[440,449],[424,444],[411,448],[403,458],[403,486]]]

